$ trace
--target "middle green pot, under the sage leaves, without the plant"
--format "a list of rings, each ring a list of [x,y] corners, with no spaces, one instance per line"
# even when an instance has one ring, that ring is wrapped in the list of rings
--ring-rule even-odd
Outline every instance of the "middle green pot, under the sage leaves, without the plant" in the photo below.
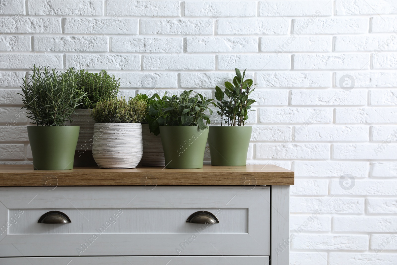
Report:
[[[166,168],[202,168],[208,129],[160,126]]]

